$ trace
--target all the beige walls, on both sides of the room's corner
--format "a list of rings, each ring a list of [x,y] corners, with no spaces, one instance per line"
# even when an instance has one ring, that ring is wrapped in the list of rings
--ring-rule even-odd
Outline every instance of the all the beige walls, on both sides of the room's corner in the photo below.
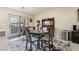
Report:
[[[73,24],[78,24],[78,8],[52,8],[51,10],[42,12],[35,17],[32,17],[29,14],[26,14],[21,11],[13,10],[10,8],[0,8],[0,30],[6,31],[6,37],[9,36],[9,20],[8,14],[27,16],[33,18],[33,22],[30,23],[30,26],[36,26],[36,20],[42,20],[44,18],[55,17],[55,36],[61,38],[61,31],[72,30]]]

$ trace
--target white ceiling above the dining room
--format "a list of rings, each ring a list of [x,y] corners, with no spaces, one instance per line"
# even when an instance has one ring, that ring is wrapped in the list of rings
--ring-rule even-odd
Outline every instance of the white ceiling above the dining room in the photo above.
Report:
[[[26,13],[29,13],[30,15],[37,15],[39,13],[42,13],[46,10],[52,9],[52,7],[10,7],[12,9],[24,11]]]

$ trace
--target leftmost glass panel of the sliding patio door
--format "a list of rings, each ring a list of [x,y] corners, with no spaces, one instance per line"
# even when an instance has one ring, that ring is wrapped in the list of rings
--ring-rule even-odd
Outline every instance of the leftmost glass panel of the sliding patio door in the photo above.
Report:
[[[14,15],[9,15],[9,29],[10,36],[19,35],[19,17]]]

